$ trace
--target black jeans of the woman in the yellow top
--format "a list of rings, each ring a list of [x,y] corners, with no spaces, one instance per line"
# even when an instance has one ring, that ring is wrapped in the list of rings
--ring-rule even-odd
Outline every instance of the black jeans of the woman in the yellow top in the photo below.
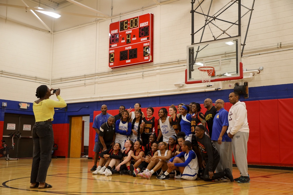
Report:
[[[51,163],[54,134],[52,122],[36,122],[33,126],[34,156],[30,183],[44,183]]]

